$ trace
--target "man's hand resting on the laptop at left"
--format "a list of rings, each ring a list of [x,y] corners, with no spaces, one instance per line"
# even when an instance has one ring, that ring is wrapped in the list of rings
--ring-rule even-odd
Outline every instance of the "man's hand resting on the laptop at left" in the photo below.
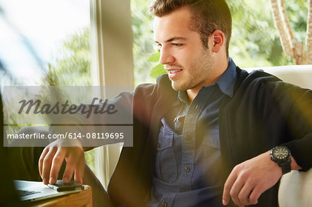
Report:
[[[45,185],[56,182],[64,159],[66,160],[66,168],[62,180],[63,183],[71,181],[73,173],[75,181],[83,183],[83,172],[85,169],[83,147],[80,141],[71,143],[71,145],[76,147],[63,147],[64,142],[61,139],[53,141],[42,151],[39,159],[39,172]]]

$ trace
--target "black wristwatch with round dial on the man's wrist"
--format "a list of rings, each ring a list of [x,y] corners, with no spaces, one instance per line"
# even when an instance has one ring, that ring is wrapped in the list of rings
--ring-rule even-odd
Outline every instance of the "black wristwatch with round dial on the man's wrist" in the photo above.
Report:
[[[291,172],[291,150],[283,145],[273,147],[271,150],[271,160],[281,167],[281,172],[286,174]]]

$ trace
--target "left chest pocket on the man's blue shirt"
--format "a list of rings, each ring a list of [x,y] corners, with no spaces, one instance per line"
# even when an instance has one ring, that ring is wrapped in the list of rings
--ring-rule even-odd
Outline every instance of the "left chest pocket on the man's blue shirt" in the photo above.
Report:
[[[173,132],[163,127],[160,129],[156,154],[156,177],[166,183],[177,179],[177,160],[173,152]]]

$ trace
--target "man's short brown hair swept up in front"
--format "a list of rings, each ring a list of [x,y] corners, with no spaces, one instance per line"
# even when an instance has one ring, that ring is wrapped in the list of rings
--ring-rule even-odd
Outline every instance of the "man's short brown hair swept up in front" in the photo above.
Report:
[[[214,30],[221,30],[227,39],[226,52],[229,56],[229,39],[232,33],[232,16],[225,0],[153,0],[150,13],[163,17],[188,6],[191,10],[191,30],[200,34],[203,46],[208,48],[208,38]]]

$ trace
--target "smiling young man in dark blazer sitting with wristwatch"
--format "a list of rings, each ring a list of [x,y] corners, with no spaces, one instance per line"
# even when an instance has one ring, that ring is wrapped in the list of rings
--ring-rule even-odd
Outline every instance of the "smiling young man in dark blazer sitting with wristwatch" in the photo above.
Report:
[[[121,152],[110,199],[116,206],[278,206],[281,175],[312,165],[311,91],[234,64],[224,0],[155,0],[150,10],[168,75],[123,93],[133,104],[134,147]],[[55,182],[64,158],[64,180],[74,172],[81,182],[83,147],[61,145],[42,152],[44,183]]]

